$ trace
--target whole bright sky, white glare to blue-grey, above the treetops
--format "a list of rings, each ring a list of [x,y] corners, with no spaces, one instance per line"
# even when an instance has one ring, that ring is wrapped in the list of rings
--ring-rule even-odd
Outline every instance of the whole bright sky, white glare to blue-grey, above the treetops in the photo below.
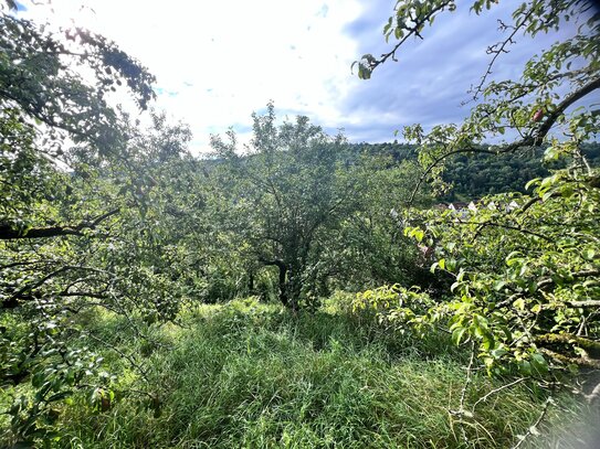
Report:
[[[23,1],[23,3],[25,3]],[[358,79],[350,66],[365,53],[391,49],[382,28],[394,0],[53,0],[54,13],[30,7],[23,15],[88,28],[115,41],[157,77],[156,107],[188,124],[192,151],[209,150],[211,133],[233,128],[248,141],[251,114],[273,100],[278,117],[306,115],[329,133],[343,129],[352,142],[394,140],[394,131],[457,122],[472,105],[502,39],[498,19],[518,3],[501,1],[477,17],[469,1],[440,15],[423,41],[410,41]],[[27,3],[25,3],[27,4]],[[518,77],[531,55],[571,29],[517,39],[494,68],[496,78]]]

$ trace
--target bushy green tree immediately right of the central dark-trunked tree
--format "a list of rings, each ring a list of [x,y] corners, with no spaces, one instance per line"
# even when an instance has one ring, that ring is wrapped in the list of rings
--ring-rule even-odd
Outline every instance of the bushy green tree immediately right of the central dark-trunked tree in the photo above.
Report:
[[[330,229],[320,253],[322,266],[335,274],[333,287],[360,291],[381,284],[429,284],[429,267],[399,229],[403,204],[417,182],[415,161],[397,162],[391,154],[358,156],[349,175],[356,185],[356,209]],[[415,202],[429,204],[422,194]]]

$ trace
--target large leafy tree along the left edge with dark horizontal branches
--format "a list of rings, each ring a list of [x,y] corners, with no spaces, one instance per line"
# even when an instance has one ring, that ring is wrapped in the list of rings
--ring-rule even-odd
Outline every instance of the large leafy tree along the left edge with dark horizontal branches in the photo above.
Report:
[[[189,131],[155,116],[158,132],[143,138],[110,92],[146,109],[154,77],[103,36],[48,31],[11,7],[0,14],[0,378],[10,438],[33,443],[54,438],[56,404],[75,392],[103,409],[114,397],[80,339],[82,311],[131,325],[177,312],[181,295],[158,264],[168,250],[147,218],[165,204],[150,201],[157,179],[185,164]],[[19,394],[27,383],[31,396]]]

